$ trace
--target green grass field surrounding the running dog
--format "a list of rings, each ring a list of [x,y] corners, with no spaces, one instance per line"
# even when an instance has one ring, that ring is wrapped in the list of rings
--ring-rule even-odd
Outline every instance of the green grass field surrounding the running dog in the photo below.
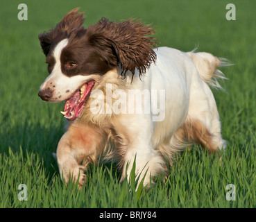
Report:
[[[236,20],[227,21],[230,1],[22,1],[28,20],[19,21],[21,1],[0,8],[0,207],[256,207],[256,2],[235,1]],[[199,146],[177,155],[170,176],[156,178],[149,190],[130,191],[119,183],[114,164],[92,166],[86,186],[65,186],[51,153],[64,133],[64,103],[37,96],[46,78],[37,35],[49,30],[72,8],[85,11],[85,26],[101,17],[135,17],[153,24],[159,46],[208,51],[228,58],[222,69],[225,92],[215,91],[226,152],[207,155]],[[19,200],[18,186],[28,188]],[[235,186],[236,200],[225,196]]]

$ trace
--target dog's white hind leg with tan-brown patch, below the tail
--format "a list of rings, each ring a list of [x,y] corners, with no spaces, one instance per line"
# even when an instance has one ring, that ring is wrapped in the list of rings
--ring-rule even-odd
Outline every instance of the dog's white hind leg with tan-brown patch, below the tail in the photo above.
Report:
[[[225,148],[225,140],[221,137],[221,122],[214,96],[209,86],[206,83],[203,85],[203,90],[197,94],[196,99],[191,99],[182,130],[189,142],[200,144],[212,153]]]

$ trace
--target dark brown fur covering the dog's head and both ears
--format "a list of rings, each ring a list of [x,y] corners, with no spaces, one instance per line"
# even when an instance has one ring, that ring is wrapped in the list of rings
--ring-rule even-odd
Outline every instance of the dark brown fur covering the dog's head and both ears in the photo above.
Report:
[[[83,13],[78,13],[78,8],[67,13],[54,29],[39,35],[42,50],[49,63],[49,71],[54,66],[54,61],[48,57],[56,44],[68,38],[69,43],[62,52],[62,72],[67,76],[105,74],[121,66],[121,75],[126,76],[126,71],[135,74],[135,69],[142,76],[156,54],[151,49],[155,47],[155,31],[142,22],[129,19],[125,22],[110,22],[102,18],[97,24],[83,28]],[[76,47],[76,48],[74,48]],[[83,60],[81,60],[83,58]],[[78,63],[76,69],[65,69],[66,62]]]

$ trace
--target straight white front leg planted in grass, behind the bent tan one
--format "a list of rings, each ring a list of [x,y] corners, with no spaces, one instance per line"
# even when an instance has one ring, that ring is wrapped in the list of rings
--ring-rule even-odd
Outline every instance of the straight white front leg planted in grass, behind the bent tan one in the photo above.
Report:
[[[160,152],[152,144],[153,126],[151,118],[145,115],[133,115],[126,117],[126,121],[129,124],[122,124],[116,128],[117,135],[120,138],[126,138],[121,140],[119,145],[117,144],[119,150],[123,150],[121,180],[124,178],[131,179],[130,175],[135,161],[138,185],[144,179],[143,185],[146,187],[150,185],[154,176],[164,171],[165,162]],[[139,126],[143,126],[143,130]]]

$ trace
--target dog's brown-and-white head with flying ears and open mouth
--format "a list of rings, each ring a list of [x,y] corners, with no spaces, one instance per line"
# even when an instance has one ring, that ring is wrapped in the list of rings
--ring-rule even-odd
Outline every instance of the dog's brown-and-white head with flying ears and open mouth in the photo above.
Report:
[[[85,29],[78,8],[67,13],[49,32],[39,35],[46,56],[49,76],[40,87],[44,101],[66,101],[65,117],[74,120],[80,114],[99,77],[117,66],[139,77],[155,62],[155,38],[150,26],[132,19],[110,22],[102,18]]]

